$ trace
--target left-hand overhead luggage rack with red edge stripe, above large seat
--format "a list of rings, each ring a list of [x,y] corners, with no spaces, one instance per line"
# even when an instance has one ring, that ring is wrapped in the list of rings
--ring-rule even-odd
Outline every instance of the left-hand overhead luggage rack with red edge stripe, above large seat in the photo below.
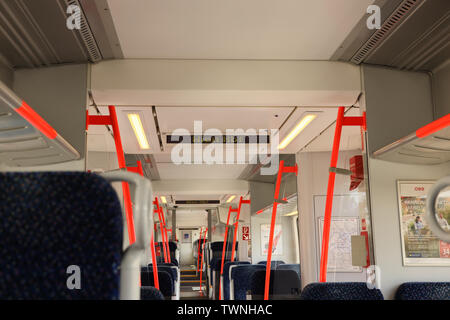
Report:
[[[55,129],[0,81],[0,163],[29,167],[79,158]]]

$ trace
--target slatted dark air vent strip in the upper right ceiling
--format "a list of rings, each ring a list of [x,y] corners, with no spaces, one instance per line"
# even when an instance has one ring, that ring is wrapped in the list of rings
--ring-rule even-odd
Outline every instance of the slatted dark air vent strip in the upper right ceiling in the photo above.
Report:
[[[422,3],[422,0],[403,1],[397,10],[386,19],[381,28],[356,52],[351,61],[360,64],[367,59]]]

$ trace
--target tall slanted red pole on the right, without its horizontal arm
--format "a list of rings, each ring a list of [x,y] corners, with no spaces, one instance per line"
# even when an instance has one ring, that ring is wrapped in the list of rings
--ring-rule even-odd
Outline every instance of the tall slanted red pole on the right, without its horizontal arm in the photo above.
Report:
[[[331,162],[330,167],[336,168],[338,155],[339,155],[339,144],[341,141],[342,125],[344,122],[344,107],[339,107],[337,119],[336,119],[336,129],[334,131],[334,141],[333,150],[331,152]],[[333,196],[334,196],[334,182],[336,180],[336,172],[329,171],[328,173],[328,188],[327,188],[327,200],[325,203],[325,217],[323,224],[323,234],[322,234],[322,252],[320,256],[320,282],[327,281],[327,265],[328,265],[328,246],[330,241],[330,226],[331,226],[331,211],[333,209]]]

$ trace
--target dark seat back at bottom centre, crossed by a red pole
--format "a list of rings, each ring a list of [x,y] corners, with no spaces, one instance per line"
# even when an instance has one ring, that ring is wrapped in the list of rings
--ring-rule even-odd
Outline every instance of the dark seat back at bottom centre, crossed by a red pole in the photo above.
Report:
[[[255,271],[250,279],[252,300],[262,300],[266,283],[266,270]],[[271,270],[269,299],[298,300],[300,299],[300,277],[294,270]]]

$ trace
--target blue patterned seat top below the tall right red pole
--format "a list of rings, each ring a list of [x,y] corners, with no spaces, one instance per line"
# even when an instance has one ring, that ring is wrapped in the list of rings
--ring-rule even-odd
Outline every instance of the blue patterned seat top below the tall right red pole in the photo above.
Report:
[[[369,289],[365,282],[310,283],[301,293],[302,300],[383,300],[379,289]]]

